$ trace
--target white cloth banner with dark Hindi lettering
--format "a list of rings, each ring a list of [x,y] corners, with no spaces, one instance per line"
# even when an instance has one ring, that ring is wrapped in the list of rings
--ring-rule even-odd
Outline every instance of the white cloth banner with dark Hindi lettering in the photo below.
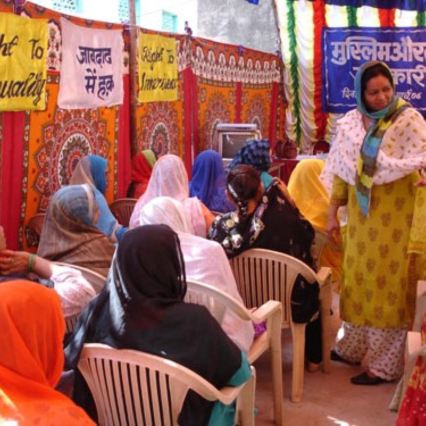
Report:
[[[123,103],[121,31],[83,28],[60,19],[62,63],[58,106],[110,107]]]

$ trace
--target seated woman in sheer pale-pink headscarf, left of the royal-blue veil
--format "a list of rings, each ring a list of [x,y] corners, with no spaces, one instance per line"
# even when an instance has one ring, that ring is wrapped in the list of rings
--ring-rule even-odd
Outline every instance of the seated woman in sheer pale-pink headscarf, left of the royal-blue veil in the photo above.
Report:
[[[172,154],[164,155],[155,163],[147,190],[135,204],[129,227],[139,226],[144,205],[161,196],[171,197],[184,205],[191,234],[200,237],[207,235],[213,215],[198,198],[189,196],[188,175],[184,163],[177,155]]]

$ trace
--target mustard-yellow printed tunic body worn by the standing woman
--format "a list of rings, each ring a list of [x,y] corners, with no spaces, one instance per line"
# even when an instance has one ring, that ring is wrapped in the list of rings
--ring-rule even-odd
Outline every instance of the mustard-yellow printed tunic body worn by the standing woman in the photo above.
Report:
[[[417,180],[415,172],[373,185],[368,218],[359,208],[354,186],[349,186],[340,293],[344,321],[377,328],[404,327],[411,322],[411,287],[423,275],[424,257],[424,253],[408,253]]]

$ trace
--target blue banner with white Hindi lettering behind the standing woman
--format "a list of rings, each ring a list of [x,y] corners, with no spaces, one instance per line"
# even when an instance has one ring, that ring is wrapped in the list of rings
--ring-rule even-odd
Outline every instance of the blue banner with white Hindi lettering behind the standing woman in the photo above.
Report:
[[[324,28],[322,54],[324,111],[357,106],[355,73],[369,60],[385,62],[397,96],[426,111],[426,28]]]

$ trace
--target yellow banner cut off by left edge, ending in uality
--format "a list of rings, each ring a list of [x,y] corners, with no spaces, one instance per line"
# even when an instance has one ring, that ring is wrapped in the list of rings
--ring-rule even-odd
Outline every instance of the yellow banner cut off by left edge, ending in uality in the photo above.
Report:
[[[47,19],[0,13],[0,111],[46,109]]]

